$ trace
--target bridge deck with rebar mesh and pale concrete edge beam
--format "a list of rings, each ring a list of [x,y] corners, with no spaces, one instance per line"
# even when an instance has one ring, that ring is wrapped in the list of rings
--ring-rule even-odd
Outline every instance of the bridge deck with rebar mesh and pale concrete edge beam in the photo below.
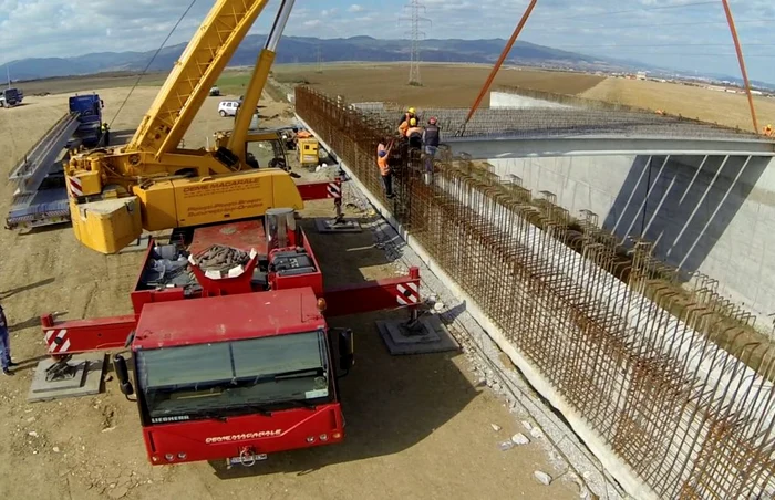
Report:
[[[369,106],[372,118],[397,127],[400,112]],[[474,159],[529,156],[716,155],[775,156],[775,140],[756,134],[651,113],[530,107],[479,110],[461,128],[465,110],[421,108],[437,116],[442,142]]]

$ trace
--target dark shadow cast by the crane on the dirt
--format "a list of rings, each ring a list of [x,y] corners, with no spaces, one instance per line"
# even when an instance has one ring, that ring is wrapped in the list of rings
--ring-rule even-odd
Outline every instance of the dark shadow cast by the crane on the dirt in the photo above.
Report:
[[[366,219],[361,221],[365,223]],[[390,263],[384,251],[373,247],[372,232],[366,228],[361,233],[320,235],[309,219],[302,225],[327,285],[363,282],[359,268]],[[404,319],[407,314],[401,309],[329,321],[331,326],[350,327],[355,334],[355,367],[340,379],[347,419],[342,444],[276,454],[251,468],[227,469],[223,462],[213,462],[216,476],[302,476],[328,465],[397,454],[455,417],[479,393],[453,363],[459,353],[391,356],[378,333],[375,321]]]

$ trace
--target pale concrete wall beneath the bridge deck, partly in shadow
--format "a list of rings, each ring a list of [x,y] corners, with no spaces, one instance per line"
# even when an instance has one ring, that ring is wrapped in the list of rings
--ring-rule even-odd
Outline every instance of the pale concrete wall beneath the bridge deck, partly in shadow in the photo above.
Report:
[[[589,209],[620,237],[643,236],[655,254],[719,280],[719,292],[768,325],[775,312],[775,160],[723,156],[582,156],[490,159],[500,176]],[[765,329],[769,332],[769,329]]]

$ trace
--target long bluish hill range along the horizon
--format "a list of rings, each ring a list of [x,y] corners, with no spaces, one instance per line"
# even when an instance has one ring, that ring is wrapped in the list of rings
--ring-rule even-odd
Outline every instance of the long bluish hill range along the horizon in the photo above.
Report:
[[[264,46],[266,35],[246,37],[229,65],[252,65],[256,55]],[[506,40],[424,40],[422,60],[428,62],[493,63],[500,55]],[[180,56],[186,44],[180,43],[163,49],[151,65],[151,71],[167,71]],[[371,37],[348,39],[317,39],[309,37],[283,37],[276,63],[312,63],[318,60],[318,48],[323,61],[366,61],[394,62],[410,60],[410,41],[379,40]],[[71,76],[114,71],[142,71],[155,51],[147,52],[99,52],[71,58],[32,58],[13,61],[10,64],[13,80],[37,80],[53,76]],[[516,42],[509,55],[515,64],[565,67],[577,70],[624,69],[621,62],[602,60],[536,45]],[[630,66],[631,67],[631,66]],[[0,65],[0,75],[6,74]],[[1,76],[0,76],[1,79]]]

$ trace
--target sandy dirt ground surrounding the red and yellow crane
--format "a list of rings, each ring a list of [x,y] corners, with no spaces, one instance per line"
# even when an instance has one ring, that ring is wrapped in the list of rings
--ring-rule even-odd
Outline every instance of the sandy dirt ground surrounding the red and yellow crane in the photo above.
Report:
[[[127,88],[101,91],[113,118]],[[126,140],[157,88],[140,87],[113,121]],[[186,146],[205,145],[231,121],[208,98],[186,135]],[[0,110],[0,175],[61,116],[66,95],[30,97]],[[283,105],[267,103],[266,116]],[[279,124],[282,117],[267,125]],[[2,188],[7,210],[14,187]],[[329,215],[328,201],[304,215]],[[307,223],[309,230],[309,223]],[[322,236],[309,231],[328,284],[393,275],[394,264],[375,249],[369,231]],[[0,378],[0,497],[6,499],[513,499],[578,497],[575,485],[545,487],[533,471],[561,471],[540,439],[502,451],[498,442],[518,423],[487,387],[476,384],[461,354],[391,357],[374,321],[396,313],[337,319],[356,332],[356,367],[341,382],[348,438],[323,447],[271,456],[251,469],[230,471],[207,462],[152,468],[145,457],[137,410],[107,382],[97,396],[27,403],[32,372],[44,357],[39,315],[62,319],[125,314],[140,253],[102,256],[80,246],[70,228],[19,235],[0,232],[0,300],[9,319],[12,352],[21,366]],[[495,431],[492,424],[502,427]]]

